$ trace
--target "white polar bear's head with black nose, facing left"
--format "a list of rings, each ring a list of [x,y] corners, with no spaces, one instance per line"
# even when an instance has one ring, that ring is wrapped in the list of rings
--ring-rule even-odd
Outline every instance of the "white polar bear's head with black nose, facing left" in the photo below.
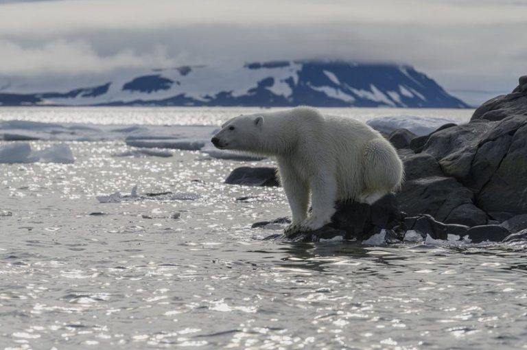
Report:
[[[263,115],[240,115],[227,121],[211,139],[220,150],[257,151],[261,131],[264,126]]]

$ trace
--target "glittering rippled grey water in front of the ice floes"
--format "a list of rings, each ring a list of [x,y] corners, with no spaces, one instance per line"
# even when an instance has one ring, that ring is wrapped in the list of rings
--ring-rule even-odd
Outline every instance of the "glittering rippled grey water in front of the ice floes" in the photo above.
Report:
[[[270,161],[69,145],[0,165],[1,349],[527,348],[525,245],[264,241],[281,189],[223,180]],[[199,198],[95,199],[134,185]]]

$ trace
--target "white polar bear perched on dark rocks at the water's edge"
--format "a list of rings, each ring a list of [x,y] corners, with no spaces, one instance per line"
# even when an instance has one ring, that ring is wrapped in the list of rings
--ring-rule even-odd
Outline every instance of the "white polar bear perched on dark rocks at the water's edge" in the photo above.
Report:
[[[331,222],[338,200],[373,204],[403,181],[403,164],[379,132],[314,108],[240,115],[211,141],[222,150],[276,157],[292,211],[286,235]]]

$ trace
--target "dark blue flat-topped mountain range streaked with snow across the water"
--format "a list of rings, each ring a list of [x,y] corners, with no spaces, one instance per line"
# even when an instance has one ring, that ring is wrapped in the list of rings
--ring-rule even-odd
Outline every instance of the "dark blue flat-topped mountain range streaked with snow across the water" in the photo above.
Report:
[[[242,67],[194,65],[120,74],[96,84],[77,80],[48,85],[0,79],[0,104],[468,107],[410,66],[343,61],[253,62]]]

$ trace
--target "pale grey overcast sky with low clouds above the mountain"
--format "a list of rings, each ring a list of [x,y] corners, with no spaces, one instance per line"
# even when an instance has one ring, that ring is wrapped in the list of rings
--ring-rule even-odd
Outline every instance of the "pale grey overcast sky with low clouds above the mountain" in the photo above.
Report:
[[[500,93],[527,74],[526,33],[527,0],[0,0],[0,75],[338,58]]]

